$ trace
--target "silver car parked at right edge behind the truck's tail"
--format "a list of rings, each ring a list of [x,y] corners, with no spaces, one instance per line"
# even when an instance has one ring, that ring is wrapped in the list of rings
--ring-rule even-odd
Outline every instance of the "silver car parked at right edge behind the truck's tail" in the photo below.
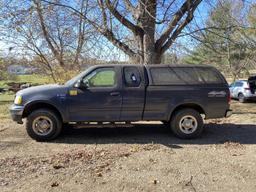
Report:
[[[247,100],[256,100],[256,78],[237,80],[229,86],[231,98],[244,103]]]

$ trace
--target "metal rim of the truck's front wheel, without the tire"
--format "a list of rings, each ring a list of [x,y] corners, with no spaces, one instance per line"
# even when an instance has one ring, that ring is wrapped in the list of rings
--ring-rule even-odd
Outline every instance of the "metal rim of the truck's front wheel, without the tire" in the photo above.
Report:
[[[38,116],[32,123],[33,131],[40,136],[48,135],[53,129],[53,122],[49,117]]]

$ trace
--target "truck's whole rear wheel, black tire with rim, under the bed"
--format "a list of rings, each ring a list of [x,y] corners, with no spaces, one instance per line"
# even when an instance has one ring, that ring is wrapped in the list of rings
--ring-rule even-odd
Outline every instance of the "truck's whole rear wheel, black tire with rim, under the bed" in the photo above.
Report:
[[[187,127],[185,127],[186,121]],[[204,122],[198,111],[187,108],[175,112],[170,125],[175,136],[181,139],[192,139],[201,135]]]

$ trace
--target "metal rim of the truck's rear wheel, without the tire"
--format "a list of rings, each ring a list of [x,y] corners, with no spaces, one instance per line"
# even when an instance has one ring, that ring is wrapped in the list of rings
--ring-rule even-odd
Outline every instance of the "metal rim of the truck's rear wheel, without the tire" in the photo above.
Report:
[[[179,128],[185,134],[191,134],[196,131],[198,126],[197,120],[191,115],[186,115],[181,118]]]

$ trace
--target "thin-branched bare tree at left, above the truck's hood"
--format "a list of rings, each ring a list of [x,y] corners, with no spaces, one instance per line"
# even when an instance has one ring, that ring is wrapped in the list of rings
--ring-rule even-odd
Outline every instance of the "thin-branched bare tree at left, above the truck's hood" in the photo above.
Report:
[[[81,1],[79,10],[87,5]],[[79,69],[94,45],[95,30],[82,17],[64,8],[42,6],[41,1],[1,1],[1,37],[5,44],[37,61],[56,80],[58,69]]]

